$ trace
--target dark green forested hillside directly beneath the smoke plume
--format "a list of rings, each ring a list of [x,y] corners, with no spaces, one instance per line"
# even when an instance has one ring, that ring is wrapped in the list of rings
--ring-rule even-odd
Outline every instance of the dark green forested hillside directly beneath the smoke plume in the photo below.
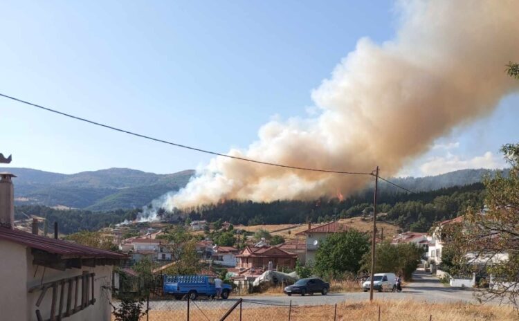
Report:
[[[428,192],[408,194],[381,191],[379,212],[387,213],[382,220],[397,223],[403,230],[426,231],[435,221],[457,217],[467,206],[481,208],[484,196],[482,183],[441,188]],[[234,224],[283,224],[320,222],[336,218],[356,217],[373,203],[373,191],[366,190],[338,199],[316,201],[275,201],[255,203],[226,201],[216,205],[203,205],[185,210],[192,219],[221,219]],[[370,212],[372,209],[368,209]]]

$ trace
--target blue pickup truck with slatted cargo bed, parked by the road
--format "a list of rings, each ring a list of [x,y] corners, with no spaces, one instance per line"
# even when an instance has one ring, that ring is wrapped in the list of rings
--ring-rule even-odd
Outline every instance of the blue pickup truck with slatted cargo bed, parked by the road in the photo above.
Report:
[[[233,288],[228,284],[221,284],[221,298],[227,299]],[[164,275],[164,294],[171,294],[176,300],[188,295],[195,300],[199,295],[215,297],[215,278],[202,275]]]

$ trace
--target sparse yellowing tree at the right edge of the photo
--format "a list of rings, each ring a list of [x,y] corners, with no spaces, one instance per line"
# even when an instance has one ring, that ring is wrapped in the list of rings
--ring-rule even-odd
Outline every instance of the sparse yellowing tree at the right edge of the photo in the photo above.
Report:
[[[511,169],[508,175],[486,178],[484,209],[469,208],[457,232],[442,230],[455,248],[466,273],[490,275],[481,300],[509,299],[519,312],[519,144],[501,149]],[[487,278],[488,280],[488,278]]]

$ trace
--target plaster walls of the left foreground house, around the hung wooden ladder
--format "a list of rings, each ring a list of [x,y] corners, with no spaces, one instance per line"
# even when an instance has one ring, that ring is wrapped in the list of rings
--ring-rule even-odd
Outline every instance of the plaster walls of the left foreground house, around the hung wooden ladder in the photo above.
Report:
[[[69,268],[67,270],[54,270],[43,266],[33,265],[33,255],[26,246],[21,246],[10,241],[0,240],[0,320],[37,321],[35,311],[39,309],[44,320],[51,315],[52,290],[49,289],[39,307],[36,301],[41,291],[28,293],[28,289],[46,282],[53,282],[66,277],[82,275],[83,271],[95,273],[94,297],[95,304],[86,307],[83,311],[66,318],[68,321],[83,320],[110,320],[111,307],[109,305],[110,293],[102,289],[102,286],[111,286],[112,266],[95,266],[90,268]],[[91,286],[91,284],[90,284]],[[64,288],[64,304],[66,305],[67,288]],[[80,292],[81,293],[81,289]],[[73,294],[74,295],[74,294]],[[57,294],[59,304],[60,293]],[[56,309],[58,308],[58,305]]]

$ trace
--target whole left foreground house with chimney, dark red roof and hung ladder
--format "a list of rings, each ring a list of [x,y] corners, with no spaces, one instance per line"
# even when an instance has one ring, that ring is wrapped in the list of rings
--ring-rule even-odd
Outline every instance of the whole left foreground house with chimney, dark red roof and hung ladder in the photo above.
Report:
[[[73,244],[14,228],[14,175],[0,173],[1,320],[111,318],[113,266],[121,253]]]

